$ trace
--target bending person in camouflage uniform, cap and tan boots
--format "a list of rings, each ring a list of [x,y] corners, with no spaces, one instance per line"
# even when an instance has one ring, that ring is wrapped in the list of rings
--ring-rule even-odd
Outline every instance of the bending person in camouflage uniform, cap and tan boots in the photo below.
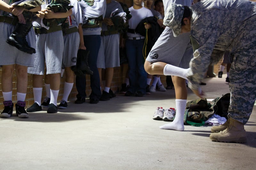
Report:
[[[229,71],[228,121],[212,127],[211,131],[218,133],[212,133],[210,139],[244,143],[244,124],[248,122],[256,100],[256,4],[241,0],[204,0],[192,5],[190,15],[183,18],[184,9],[182,5],[169,6],[164,20],[174,36],[190,32],[194,58],[185,75],[188,87],[198,97],[203,98],[197,89],[210,63],[219,62],[225,51],[229,51],[233,58]]]

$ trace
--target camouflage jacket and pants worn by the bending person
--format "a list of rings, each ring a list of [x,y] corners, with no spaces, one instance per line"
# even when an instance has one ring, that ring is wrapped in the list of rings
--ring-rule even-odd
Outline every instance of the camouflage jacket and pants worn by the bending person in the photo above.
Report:
[[[256,99],[256,4],[244,0],[204,0],[190,7],[191,42],[197,43],[187,73],[189,87],[198,89],[210,63],[230,51],[231,93],[228,117],[245,124]],[[195,47],[195,45],[194,45]]]

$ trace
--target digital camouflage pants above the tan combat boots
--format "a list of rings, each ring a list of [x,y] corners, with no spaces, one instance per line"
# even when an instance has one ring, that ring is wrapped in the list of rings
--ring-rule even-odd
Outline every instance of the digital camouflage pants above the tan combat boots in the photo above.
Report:
[[[231,93],[228,117],[243,124],[248,122],[256,100],[256,17],[240,26],[232,43],[233,63],[229,70]]]

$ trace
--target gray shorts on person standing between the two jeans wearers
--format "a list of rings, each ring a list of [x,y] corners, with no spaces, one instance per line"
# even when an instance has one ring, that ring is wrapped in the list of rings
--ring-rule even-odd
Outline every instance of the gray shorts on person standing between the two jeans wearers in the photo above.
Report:
[[[113,68],[120,66],[119,34],[101,36],[100,50],[97,59],[98,68]]]

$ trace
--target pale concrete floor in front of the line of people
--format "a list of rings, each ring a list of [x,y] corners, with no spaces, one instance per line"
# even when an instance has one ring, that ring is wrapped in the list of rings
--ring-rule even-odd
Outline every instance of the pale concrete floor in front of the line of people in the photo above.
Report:
[[[229,92],[225,75],[204,82],[210,101]],[[255,169],[256,107],[245,144],[212,142],[211,126],[159,129],[168,122],[152,119],[156,107],[175,107],[174,90],[0,118],[0,169]]]

